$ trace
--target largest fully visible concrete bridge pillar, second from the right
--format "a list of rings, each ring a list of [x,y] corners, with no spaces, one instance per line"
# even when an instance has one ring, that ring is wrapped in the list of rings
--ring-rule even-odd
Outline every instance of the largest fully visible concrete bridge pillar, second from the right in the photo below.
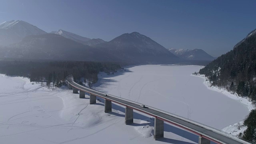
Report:
[[[154,124],[154,140],[164,137],[164,121],[155,118]]]

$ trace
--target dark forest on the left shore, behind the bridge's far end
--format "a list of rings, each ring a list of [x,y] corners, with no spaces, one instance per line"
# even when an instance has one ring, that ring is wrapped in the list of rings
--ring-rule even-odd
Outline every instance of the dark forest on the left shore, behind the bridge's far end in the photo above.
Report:
[[[61,86],[65,78],[72,74],[80,84],[87,82],[89,86],[98,81],[98,73],[112,74],[120,69],[119,64],[109,62],[38,62],[38,61],[0,61],[0,73],[8,76],[23,76],[31,82],[46,82],[49,87]]]

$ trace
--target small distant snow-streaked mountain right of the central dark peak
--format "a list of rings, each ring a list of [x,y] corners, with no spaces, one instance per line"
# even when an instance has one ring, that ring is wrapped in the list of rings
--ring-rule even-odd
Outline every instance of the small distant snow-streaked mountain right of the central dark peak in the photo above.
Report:
[[[186,59],[186,60],[214,60],[215,58],[211,55],[207,54],[202,49],[194,49],[194,50],[188,50],[188,49],[174,49],[170,48],[170,52],[175,54],[176,56]]]

